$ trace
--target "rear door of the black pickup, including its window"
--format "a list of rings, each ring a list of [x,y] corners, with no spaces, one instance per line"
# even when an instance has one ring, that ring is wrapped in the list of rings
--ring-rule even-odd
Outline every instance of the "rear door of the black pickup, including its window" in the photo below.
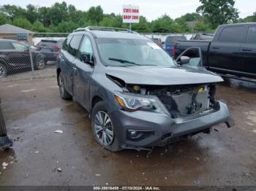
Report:
[[[209,68],[222,73],[244,71],[240,50],[245,33],[245,26],[220,28],[218,39],[214,39],[209,48]]]

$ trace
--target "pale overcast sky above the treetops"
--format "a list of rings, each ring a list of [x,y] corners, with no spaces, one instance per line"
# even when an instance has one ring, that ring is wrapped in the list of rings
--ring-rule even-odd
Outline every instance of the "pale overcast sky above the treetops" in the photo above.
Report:
[[[61,2],[63,0],[57,1]],[[34,4],[39,7],[50,7],[55,2],[54,0],[1,0],[0,5],[15,4],[26,7],[27,4]],[[91,6],[100,5],[104,13],[114,12],[116,14],[121,14],[122,5],[132,4],[140,7],[140,15],[145,16],[148,21],[165,14],[175,19],[187,12],[195,12],[197,7],[200,6],[199,0],[69,0],[66,2],[83,11],[88,10]],[[235,7],[240,12],[239,16],[244,18],[256,12],[256,1],[236,0]]]

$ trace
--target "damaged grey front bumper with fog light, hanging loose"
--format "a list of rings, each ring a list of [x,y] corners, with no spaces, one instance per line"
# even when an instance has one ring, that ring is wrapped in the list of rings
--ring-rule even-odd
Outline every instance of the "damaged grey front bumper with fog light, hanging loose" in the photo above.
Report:
[[[234,125],[224,101],[217,102],[217,111],[190,117],[171,118],[155,112],[112,112],[116,137],[121,147],[143,149],[165,146],[184,136],[191,136],[225,122],[228,128]]]

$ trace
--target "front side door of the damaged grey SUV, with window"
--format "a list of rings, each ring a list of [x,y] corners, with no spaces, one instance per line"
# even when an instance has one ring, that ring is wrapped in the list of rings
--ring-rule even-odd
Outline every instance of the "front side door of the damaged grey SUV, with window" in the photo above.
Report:
[[[75,60],[76,71],[74,74],[74,95],[75,99],[89,110],[90,103],[90,79],[94,70],[94,66],[85,63],[83,55],[90,55],[91,61],[94,60],[94,51],[91,46],[91,40],[89,36],[84,35],[83,41],[80,44],[79,56]]]

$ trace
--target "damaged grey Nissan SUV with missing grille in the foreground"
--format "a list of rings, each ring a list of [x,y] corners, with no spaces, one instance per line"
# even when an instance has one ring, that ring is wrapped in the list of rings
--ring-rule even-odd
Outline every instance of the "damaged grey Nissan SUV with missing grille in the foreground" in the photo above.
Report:
[[[222,122],[233,125],[227,104],[214,98],[222,77],[179,66],[151,39],[130,31],[73,31],[56,73],[61,98],[73,98],[89,112],[94,138],[113,152],[164,146]]]

